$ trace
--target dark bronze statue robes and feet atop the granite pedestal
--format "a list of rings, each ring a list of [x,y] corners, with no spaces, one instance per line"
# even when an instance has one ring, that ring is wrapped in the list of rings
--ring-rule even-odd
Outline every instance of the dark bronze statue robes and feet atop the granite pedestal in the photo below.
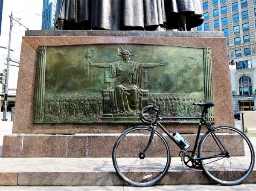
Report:
[[[190,30],[203,23],[200,0],[57,0],[60,30]]]

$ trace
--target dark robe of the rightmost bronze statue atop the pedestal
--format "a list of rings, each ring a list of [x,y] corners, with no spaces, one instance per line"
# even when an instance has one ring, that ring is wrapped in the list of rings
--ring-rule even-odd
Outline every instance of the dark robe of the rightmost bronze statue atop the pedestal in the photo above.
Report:
[[[165,0],[166,28],[179,29],[178,16],[186,14],[186,29],[200,26],[204,22],[200,0]]]

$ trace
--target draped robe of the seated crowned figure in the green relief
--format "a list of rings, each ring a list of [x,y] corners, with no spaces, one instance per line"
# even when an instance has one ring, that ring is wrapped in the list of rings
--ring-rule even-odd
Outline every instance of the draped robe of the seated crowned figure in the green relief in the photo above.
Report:
[[[128,65],[122,61],[110,63],[109,76],[116,78],[110,95],[113,114],[136,115],[140,112],[141,90],[143,90],[142,69],[141,63],[132,61]]]

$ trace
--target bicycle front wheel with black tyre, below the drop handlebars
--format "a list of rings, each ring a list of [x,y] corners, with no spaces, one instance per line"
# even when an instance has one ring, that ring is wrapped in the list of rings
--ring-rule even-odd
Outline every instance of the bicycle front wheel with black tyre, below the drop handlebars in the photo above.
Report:
[[[112,160],[116,172],[131,185],[153,185],[161,180],[169,169],[169,144],[157,130],[145,156],[139,156],[148,144],[150,135],[151,129],[147,126],[129,128],[120,135],[113,147]]]

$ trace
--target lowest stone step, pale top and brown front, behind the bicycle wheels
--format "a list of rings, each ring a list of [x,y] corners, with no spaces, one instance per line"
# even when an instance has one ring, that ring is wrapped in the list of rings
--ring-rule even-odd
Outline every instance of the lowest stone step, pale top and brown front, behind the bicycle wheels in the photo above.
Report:
[[[125,185],[113,167],[112,158],[0,158],[0,185]],[[256,169],[245,182],[256,183]],[[202,170],[189,169],[172,157],[159,184],[214,183]]]

